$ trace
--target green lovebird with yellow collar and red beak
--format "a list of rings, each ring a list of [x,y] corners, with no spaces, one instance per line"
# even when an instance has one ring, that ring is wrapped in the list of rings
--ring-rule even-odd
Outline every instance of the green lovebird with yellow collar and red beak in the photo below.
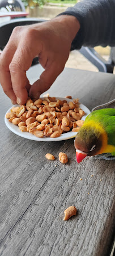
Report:
[[[76,160],[111,153],[115,156],[115,109],[95,110],[86,117],[74,141]]]

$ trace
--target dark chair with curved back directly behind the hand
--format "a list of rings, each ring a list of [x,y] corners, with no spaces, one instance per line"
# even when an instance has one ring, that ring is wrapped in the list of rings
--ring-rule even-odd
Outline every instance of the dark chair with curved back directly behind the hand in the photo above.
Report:
[[[12,19],[8,22],[0,24],[0,49],[3,50],[5,45],[7,44],[12,30],[17,26],[25,26],[31,25],[35,23],[44,22],[44,19],[37,19],[37,18],[20,18],[20,19]],[[39,63],[38,57],[34,58],[32,61],[32,65]]]

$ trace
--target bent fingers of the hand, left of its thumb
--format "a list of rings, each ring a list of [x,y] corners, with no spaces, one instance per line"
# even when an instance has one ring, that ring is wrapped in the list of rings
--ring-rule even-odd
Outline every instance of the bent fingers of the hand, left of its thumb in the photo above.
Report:
[[[21,41],[19,31],[15,30],[3,52],[0,52],[0,83],[13,104],[16,102],[24,104],[31,87],[26,77],[26,71],[33,60],[32,48],[30,47],[31,40],[28,39],[28,41],[27,44],[27,37],[23,37]]]

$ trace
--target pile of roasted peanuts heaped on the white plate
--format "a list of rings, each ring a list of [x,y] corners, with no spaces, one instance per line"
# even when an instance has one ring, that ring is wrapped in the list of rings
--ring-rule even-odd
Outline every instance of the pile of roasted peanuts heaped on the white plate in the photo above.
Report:
[[[71,96],[66,98],[71,99]],[[78,132],[84,123],[80,120],[84,114],[79,108],[79,99],[67,103],[66,99],[46,97],[35,102],[28,98],[25,106],[12,107],[6,118],[18,125],[22,132],[29,132],[40,138],[56,138],[65,132]]]

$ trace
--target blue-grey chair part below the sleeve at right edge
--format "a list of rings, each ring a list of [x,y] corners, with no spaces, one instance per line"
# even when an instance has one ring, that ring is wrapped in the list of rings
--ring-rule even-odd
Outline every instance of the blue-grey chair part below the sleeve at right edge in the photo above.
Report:
[[[115,64],[115,47],[111,48],[109,60],[106,61],[93,48],[82,47],[79,52],[83,54],[100,72],[113,73]]]

